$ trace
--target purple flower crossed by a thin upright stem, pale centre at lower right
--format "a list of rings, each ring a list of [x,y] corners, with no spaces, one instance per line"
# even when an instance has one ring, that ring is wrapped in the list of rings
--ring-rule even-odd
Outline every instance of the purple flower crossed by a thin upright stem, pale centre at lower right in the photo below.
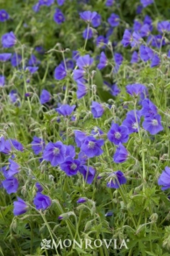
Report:
[[[122,124],[128,127],[129,134],[138,133],[138,129],[140,125],[140,115],[138,111],[136,111],[136,117],[135,117],[134,110],[128,112]]]

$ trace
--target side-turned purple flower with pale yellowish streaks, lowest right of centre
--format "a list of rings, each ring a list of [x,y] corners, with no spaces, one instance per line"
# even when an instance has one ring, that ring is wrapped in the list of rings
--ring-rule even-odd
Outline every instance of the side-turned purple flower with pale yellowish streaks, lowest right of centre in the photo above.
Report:
[[[107,187],[119,188],[122,184],[125,184],[127,179],[125,178],[122,171],[115,171],[110,174],[110,181],[107,182]]]

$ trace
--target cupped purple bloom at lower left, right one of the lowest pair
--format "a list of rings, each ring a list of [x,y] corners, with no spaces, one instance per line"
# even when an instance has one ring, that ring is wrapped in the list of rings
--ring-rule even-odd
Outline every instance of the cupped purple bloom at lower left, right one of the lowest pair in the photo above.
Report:
[[[37,210],[45,210],[51,205],[52,202],[50,197],[43,195],[41,192],[37,192],[36,196],[34,197],[33,203],[35,204]]]

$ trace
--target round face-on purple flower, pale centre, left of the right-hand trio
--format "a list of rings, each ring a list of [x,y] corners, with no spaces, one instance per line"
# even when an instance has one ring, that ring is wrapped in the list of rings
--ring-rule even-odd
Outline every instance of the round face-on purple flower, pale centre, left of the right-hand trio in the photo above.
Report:
[[[126,143],[128,141],[128,128],[124,125],[119,126],[117,123],[112,123],[110,130],[107,133],[107,138],[115,145]]]

